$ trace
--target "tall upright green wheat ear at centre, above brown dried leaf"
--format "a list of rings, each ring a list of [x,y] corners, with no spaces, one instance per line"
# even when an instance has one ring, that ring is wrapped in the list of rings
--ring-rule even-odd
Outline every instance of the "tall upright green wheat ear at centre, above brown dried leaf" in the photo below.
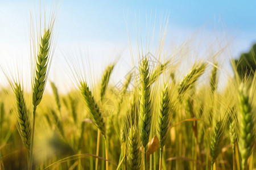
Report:
[[[147,58],[141,61],[139,65],[140,73],[140,116],[139,128],[141,130],[141,141],[144,148],[146,148],[151,128],[151,101],[150,101],[150,82],[149,82],[149,68]]]

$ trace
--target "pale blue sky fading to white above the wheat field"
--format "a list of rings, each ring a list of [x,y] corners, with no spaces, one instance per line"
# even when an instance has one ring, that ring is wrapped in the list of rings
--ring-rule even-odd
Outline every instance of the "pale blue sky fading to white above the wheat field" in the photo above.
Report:
[[[168,16],[167,44],[179,44],[190,35],[209,39],[217,35],[228,42],[232,57],[238,57],[256,42],[255,6],[255,1],[64,0],[55,29],[58,34],[56,58],[61,58],[61,48],[79,44],[97,61],[108,61],[112,55],[129,51],[127,27],[135,43],[136,25],[142,25],[145,38],[144,32],[154,25],[155,15],[156,30]],[[30,11],[34,8],[32,0],[0,0],[0,58],[28,56]],[[148,26],[150,15],[152,21]],[[123,59],[128,61],[127,57]],[[105,65],[101,63],[101,67]]]

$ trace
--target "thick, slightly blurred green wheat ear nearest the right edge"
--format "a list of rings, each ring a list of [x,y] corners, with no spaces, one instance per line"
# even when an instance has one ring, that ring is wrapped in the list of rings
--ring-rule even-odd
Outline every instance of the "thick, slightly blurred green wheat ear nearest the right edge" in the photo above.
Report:
[[[254,144],[254,122],[253,112],[249,103],[249,95],[246,88],[241,84],[238,93],[239,107],[239,141],[238,147],[241,154],[241,168],[246,169],[247,159],[249,158]]]

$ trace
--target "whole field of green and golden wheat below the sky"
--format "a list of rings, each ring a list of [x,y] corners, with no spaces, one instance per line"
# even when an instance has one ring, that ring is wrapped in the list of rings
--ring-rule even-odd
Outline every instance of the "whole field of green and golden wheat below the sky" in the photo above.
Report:
[[[20,70],[15,75],[0,64],[10,87],[0,91],[0,169],[256,168],[253,71],[220,82],[225,69],[215,56],[181,68],[189,55],[177,59],[159,47],[157,64],[139,53],[133,71],[119,80],[118,61],[97,78],[89,61],[85,67],[72,56],[77,87],[60,93],[51,82],[51,95],[44,91],[56,8],[48,25],[44,19],[31,31],[32,91]]]

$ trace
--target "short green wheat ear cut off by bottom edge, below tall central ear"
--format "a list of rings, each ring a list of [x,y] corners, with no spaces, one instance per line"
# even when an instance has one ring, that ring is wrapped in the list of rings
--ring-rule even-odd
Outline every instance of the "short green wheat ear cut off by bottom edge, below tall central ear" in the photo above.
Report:
[[[136,128],[130,128],[127,141],[127,163],[130,169],[139,169],[141,167],[141,143]]]

